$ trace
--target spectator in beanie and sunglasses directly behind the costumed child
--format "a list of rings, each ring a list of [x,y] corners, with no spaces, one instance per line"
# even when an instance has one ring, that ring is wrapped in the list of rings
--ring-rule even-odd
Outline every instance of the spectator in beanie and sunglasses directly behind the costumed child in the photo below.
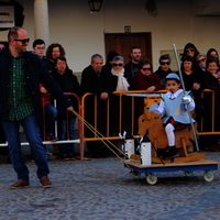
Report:
[[[169,67],[170,62],[172,62],[172,58],[168,54],[163,54],[158,58],[160,66],[158,66],[158,69],[155,72],[155,74],[158,75],[160,84],[163,86],[165,85],[166,76],[172,73],[172,69]]]

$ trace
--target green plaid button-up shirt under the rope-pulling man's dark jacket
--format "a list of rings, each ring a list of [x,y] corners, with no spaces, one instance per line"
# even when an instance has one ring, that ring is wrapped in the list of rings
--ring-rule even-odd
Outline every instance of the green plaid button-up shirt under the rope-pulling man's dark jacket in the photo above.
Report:
[[[23,69],[24,58],[11,56],[11,77],[9,88],[9,121],[22,120],[34,112],[34,101]]]

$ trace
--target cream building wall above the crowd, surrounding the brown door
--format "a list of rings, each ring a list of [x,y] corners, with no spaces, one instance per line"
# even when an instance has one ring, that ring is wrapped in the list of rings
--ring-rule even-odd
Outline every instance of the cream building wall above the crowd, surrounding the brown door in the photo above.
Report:
[[[24,25],[32,50],[34,40],[33,1],[16,0],[24,7]],[[69,67],[81,72],[90,63],[90,56],[105,56],[105,33],[123,33],[124,25],[132,32],[152,32],[154,70],[161,51],[173,50],[175,43],[182,50],[194,43],[201,53],[210,47],[220,53],[220,16],[194,15],[193,0],[156,0],[157,16],[145,9],[146,0],[105,0],[99,13],[89,13],[88,0],[48,0],[51,43],[61,43]],[[219,3],[220,4],[220,3]],[[197,10],[198,11],[198,10]],[[0,32],[4,41],[7,32]],[[128,52],[129,53],[129,52]]]

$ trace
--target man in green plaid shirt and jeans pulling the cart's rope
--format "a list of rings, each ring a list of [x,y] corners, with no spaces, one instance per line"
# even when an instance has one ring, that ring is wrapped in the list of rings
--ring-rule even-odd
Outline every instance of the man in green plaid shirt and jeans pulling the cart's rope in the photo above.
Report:
[[[20,143],[20,125],[32,148],[37,177],[44,188],[51,187],[46,151],[40,132],[41,98],[40,82],[57,100],[73,110],[68,99],[47,72],[43,62],[26,51],[28,32],[19,26],[8,33],[9,47],[0,53],[0,120],[4,130],[11,163],[18,182],[11,189],[30,186],[29,168],[25,165]]]

